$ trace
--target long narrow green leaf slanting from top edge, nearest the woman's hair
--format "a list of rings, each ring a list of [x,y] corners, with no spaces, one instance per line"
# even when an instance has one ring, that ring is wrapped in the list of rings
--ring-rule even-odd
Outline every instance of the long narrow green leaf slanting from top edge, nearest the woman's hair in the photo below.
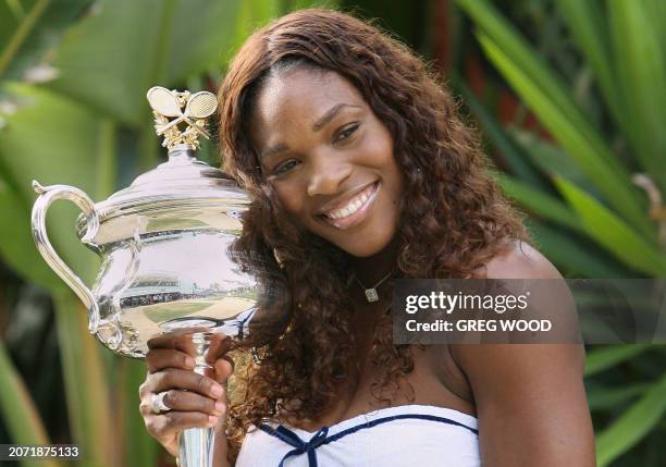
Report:
[[[644,199],[556,74],[488,1],[458,0],[458,4],[481,27],[477,36],[489,59],[577,160],[610,206],[642,235],[655,238],[654,225],[643,214]]]

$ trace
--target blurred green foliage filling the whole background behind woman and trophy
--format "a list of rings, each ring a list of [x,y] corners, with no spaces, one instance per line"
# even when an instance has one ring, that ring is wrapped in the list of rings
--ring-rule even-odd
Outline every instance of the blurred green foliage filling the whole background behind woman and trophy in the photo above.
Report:
[[[163,157],[150,86],[214,88],[250,30],[311,3],[0,0],[0,442],[74,442],[85,466],[171,462],[138,416],[143,364],[87,334],[82,305],[36,250],[30,181],[96,200],[126,186]],[[566,275],[666,276],[664,2],[325,4],[379,17],[445,72]],[[217,163],[214,142],[201,157]],[[98,261],[74,235],[75,209],[51,211],[52,243],[90,282]],[[664,465],[664,346],[588,352],[599,465]]]

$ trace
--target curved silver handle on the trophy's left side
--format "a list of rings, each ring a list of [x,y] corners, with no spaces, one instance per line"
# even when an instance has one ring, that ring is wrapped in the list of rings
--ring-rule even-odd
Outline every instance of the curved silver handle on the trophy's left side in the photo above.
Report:
[[[95,210],[95,204],[83,191],[67,185],[41,186],[37,181],[33,181],[33,188],[39,197],[33,206],[33,238],[37,249],[45,261],[60,278],[74,291],[88,309],[88,330],[91,334],[97,332],[99,325],[99,307],[92,292],[83,283],[67,265],[58,256],[55,249],[49,242],[46,230],[46,214],[51,202],[58,199],[69,199],[81,208],[86,217],[86,234],[81,238],[85,245],[97,248],[92,238],[99,230],[99,216]]]

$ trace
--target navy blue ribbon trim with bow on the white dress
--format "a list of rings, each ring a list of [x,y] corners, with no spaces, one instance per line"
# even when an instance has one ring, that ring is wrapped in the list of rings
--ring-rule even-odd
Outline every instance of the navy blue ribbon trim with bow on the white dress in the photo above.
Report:
[[[378,418],[378,419],[368,421],[366,423],[357,425],[356,427],[347,428],[346,430],[343,430],[330,437],[328,435],[329,427],[323,427],[319,431],[317,431],[317,433],[314,433],[314,435],[310,439],[310,441],[303,441],[300,437],[298,437],[298,434],[294,433],[292,430],[283,427],[282,425],[278,426],[278,428],[272,428],[266,423],[262,423],[259,427],[259,429],[270,434],[271,437],[275,437],[279,440],[284,441],[289,446],[294,447],[292,451],[287,452],[282,457],[282,460],[280,460],[280,465],[278,467],[284,467],[284,462],[287,458],[292,456],[298,456],[301,454],[308,455],[308,466],[309,467],[317,467],[317,452],[314,451],[317,450],[317,447],[323,444],[329,444],[334,441],[337,441],[341,438],[346,437],[347,434],[355,433],[359,430],[362,430],[366,428],[372,428],[380,423],[386,423],[388,421],[400,420],[405,418],[418,418],[421,420],[439,421],[441,423],[455,425],[457,427],[465,428],[466,430],[469,430],[474,434],[479,434],[479,430],[468,427],[465,423],[460,423],[459,421],[452,420],[451,418],[437,417],[434,415],[420,415],[420,414],[419,415],[403,414],[403,415],[394,415],[392,417]]]

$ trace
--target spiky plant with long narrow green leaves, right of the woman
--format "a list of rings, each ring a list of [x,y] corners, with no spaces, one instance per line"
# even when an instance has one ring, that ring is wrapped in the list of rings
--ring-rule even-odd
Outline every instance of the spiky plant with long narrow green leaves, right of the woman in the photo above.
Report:
[[[554,41],[567,47],[567,70],[557,51],[539,51],[495,4],[457,0],[486,60],[543,131],[499,123],[460,75],[454,82],[508,169],[498,175],[505,192],[532,214],[539,245],[568,275],[666,278],[664,2],[540,2],[543,16],[562,26]],[[666,458],[658,441],[666,434],[664,351],[589,349],[600,466]]]

